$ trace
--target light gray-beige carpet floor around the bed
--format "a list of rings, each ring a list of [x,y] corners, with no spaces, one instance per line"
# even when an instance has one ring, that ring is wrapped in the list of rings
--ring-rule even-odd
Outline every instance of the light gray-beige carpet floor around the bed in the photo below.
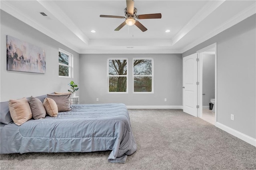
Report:
[[[129,109],[137,151],[109,163],[110,151],[1,154],[15,170],[256,170],[256,147],[181,109]]]

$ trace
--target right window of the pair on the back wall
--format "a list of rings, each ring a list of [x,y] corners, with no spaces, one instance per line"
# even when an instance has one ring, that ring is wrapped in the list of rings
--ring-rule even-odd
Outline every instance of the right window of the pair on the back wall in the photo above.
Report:
[[[153,93],[153,59],[133,59],[134,93]]]

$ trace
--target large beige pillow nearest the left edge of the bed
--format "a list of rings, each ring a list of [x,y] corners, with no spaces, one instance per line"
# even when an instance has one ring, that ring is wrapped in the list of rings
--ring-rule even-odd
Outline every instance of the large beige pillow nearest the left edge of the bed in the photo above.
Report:
[[[32,119],[32,112],[25,97],[22,99],[10,99],[9,110],[13,122],[18,126]]]

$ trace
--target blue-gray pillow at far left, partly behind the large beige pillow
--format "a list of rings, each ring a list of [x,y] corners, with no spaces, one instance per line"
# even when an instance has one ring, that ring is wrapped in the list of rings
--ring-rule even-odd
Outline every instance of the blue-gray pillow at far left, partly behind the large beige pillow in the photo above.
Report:
[[[0,103],[0,122],[6,125],[13,122],[9,111],[9,101]]]

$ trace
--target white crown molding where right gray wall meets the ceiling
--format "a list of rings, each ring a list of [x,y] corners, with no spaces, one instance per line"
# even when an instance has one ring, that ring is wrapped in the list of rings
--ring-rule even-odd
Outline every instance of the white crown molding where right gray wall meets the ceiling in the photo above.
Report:
[[[217,34],[223,32],[224,30],[238,24],[242,20],[245,20],[246,18],[256,14],[256,3],[252,4],[242,12],[238,13],[237,15],[230,18],[230,20],[224,22],[222,25],[218,26],[217,28],[213,29],[209,34],[206,36],[198,39],[197,41],[190,43],[186,47],[184,47],[181,52],[184,53],[188,51],[189,49],[195,47],[196,45],[199,45],[200,43],[205,42],[206,40],[209,40],[210,38],[216,36]]]

